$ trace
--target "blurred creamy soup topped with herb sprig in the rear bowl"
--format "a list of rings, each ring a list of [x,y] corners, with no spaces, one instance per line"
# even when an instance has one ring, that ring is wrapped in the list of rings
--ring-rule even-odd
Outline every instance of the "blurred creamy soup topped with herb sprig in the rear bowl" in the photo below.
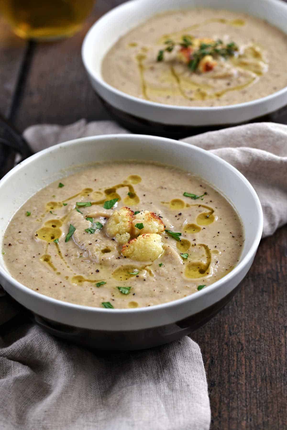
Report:
[[[287,35],[261,19],[227,10],[155,15],[105,55],[102,77],[145,100],[222,106],[287,86]]]

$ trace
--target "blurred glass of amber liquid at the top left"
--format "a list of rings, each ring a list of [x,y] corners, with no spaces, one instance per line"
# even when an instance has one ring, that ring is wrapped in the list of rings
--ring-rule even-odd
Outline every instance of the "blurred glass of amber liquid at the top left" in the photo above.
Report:
[[[25,39],[53,40],[80,30],[95,0],[0,0],[0,12]]]

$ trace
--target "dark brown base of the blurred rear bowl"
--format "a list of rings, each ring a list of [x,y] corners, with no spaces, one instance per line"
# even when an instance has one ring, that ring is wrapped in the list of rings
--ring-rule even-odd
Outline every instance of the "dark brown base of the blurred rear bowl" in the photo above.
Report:
[[[225,125],[211,125],[206,127],[192,127],[192,126],[173,126],[154,121],[144,120],[134,115],[127,114],[126,112],[120,111],[116,107],[113,107],[107,101],[99,97],[100,101],[111,114],[111,116],[120,123],[121,126],[137,134],[148,134],[155,136],[162,136],[173,139],[182,139],[188,136],[198,135],[200,133],[219,130],[227,127],[234,127],[247,123],[262,123],[262,122],[275,122],[275,123],[287,123],[287,106],[278,109],[278,111],[272,112],[272,114],[264,115],[262,117],[255,118],[251,121],[247,121],[241,124],[225,124]]]

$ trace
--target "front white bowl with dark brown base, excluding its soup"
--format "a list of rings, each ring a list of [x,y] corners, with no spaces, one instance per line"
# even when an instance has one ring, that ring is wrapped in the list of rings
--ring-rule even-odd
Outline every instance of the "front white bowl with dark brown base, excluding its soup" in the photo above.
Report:
[[[245,242],[235,269],[208,288],[167,304],[124,310],[85,307],[41,295],[12,277],[0,254],[1,285],[35,315],[38,323],[55,335],[103,349],[139,349],[164,344],[202,325],[234,294],[253,262],[262,234],[262,208],[256,192],[224,160],[167,138],[106,135],[53,146],[7,173],[0,181],[1,205],[5,208],[0,218],[0,249],[12,216],[41,188],[78,171],[79,164],[127,159],[152,159],[178,166],[213,184],[237,208],[244,225]]]

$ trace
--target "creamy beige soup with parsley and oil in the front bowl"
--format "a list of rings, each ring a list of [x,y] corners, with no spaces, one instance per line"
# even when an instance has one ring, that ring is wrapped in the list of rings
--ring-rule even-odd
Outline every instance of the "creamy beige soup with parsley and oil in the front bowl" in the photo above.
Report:
[[[37,192],[3,237],[11,275],[86,306],[135,308],[208,288],[238,263],[235,209],[190,172],[99,163]]]

